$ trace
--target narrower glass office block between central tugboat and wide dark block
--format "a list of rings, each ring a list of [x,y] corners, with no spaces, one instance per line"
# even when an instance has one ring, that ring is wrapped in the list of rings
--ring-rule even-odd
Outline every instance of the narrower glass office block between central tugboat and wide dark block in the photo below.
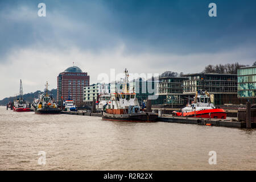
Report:
[[[183,94],[183,81],[187,77],[159,77],[158,99],[154,104],[166,105],[184,105],[187,103],[187,97]]]

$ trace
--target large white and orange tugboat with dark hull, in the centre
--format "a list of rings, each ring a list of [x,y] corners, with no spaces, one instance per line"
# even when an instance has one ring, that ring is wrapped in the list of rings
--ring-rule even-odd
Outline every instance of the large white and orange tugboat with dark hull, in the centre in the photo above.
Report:
[[[128,71],[125,69],[125,80],[123,82],[122,93],[112,93],[110,100],[104,105],[102,119],[109,121],[135,121],[154,122],[158,114],[144,112],[139,106],[135,93],[127,90]]]

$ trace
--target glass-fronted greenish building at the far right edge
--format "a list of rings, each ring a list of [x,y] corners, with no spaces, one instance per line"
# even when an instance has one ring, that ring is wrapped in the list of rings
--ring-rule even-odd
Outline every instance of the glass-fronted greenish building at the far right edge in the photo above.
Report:
[[[237,70],[237,97],[256,98],[256,67]]]

